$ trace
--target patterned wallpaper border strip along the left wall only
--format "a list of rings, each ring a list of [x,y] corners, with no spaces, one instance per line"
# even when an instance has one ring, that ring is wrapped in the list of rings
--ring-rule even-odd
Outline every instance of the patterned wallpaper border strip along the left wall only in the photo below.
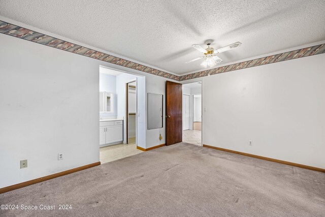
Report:
[[[119,66],[123,66],[123,67],[127,67],[127,68],[131,68],[131,69],[135,69],[135,70],[139,70],[142,72],[146,72],[149,74],[153,74],[153,75],[157,75],[157,76],[161,76],[164,78],[169,78],[169,79],[173,79],[173,80],[177,80],[179,79],[179,76],[177,75],[173,75],[167,72],[163,72],[151,67],[147,67],[141,64],[137,64],[134,63],[132,61],[123,59],[123,58],[119,58],[107,53],[103,53],[100,51],[96,51],[90,48],[86,48],[74,43],[70,43],[64,40],[60,40],[45,34],[41,34],[38,32],[35,32],[33,30],[27,29],[27,28],[23,28],[8,22],[4,22],[0,20],[0,33],[3,33],[5,35],[9,35],[9,36],[13,36],[16,38],[20,38],[20,39],[24,39],[27,41],[31,41],[31,42],[35,42],[38,44],[43,44],[43,45],[47,45],[50,47],[54,47],[60,50],[64,50],[64,51],[68,51],[68,52],[72,52],[72,53],[76,53],[76,54],[80,54],[83,56],[87,56],[90,58],[94,58],[94,59],[99,59],[102,61],[105,61],[107,63],[111,63],[111,64],[116,64]]]

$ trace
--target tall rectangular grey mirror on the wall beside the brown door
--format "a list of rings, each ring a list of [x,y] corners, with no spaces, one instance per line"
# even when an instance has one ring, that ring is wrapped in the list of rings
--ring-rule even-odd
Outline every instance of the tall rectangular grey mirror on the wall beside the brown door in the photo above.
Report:
[[[163,128],[163,95],[148,93],[148,130]]]

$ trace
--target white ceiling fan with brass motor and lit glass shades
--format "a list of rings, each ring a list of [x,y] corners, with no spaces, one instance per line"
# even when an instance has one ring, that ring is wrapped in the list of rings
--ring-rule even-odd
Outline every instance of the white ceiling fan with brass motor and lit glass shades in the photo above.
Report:
[[[212,42],[213,42],[213,40],[206,40],[205,41],[205,44],[208,45],[207,49],[204,49],[203,47],[201,47],[198,44],[193,44],[192,47],[197,49],[201,53],[204,53],[204,56],[200,56],[198,58],[189,60],[189,61],[185,62],[185,64],[192,63],[193,61],[204,58],[204,61],[202,62],[201,66],[204,66],[205,68],[213,67],[213,66],[217,65],[218,63],[220,63],[222,61],[222,59],[219,58],[218,56],[216,56],[215,54],[221,53],[221,52],[224,52],[224,51],[236,48],[236,47],[239,47],[242,44],[240,42],[236,42],[236,43],[230,44],[228,46],[221,47],[221,48],[219,48],[217,50],[214,50],[213,47],[210,47]]]

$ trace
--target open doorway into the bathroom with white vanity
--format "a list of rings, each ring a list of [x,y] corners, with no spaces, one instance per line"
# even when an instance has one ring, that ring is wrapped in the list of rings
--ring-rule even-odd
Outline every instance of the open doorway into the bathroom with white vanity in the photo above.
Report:
[[[144,138],[141,135],[145,128],[137,129],[136,114],[138,109],[144,113],[144,102],[137,101],[138,96],[145,97],[145,88],[142,88],[145,77],[103,66],[99,74],[99,149],[103,164],[142,152],[137,148],[137,140]],[[140,144],[143,144],[141,139]]]

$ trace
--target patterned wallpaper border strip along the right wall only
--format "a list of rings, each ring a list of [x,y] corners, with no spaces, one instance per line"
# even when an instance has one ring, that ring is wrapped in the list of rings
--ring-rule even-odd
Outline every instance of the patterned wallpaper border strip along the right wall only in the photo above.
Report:
[[[235,71],[239,69],[246,69],[255,66],[262,66],[266,64],[278,63],[289,59],[296,59],[305,56],[311,56],[316,54],[325,53],[325,44],[315,45],[312,47],[302,48],[294,51],[288,51],[285,53],[279,53],[271,56],[261,57],[253,60],[247,60],[241,63],[223,66],[219,68],[209,69],[201,72],[196,72],[188,75],[180,76],[178,81],[185,81],[193,78],[200,78],[208,75],[215,75],[224,72]]]

